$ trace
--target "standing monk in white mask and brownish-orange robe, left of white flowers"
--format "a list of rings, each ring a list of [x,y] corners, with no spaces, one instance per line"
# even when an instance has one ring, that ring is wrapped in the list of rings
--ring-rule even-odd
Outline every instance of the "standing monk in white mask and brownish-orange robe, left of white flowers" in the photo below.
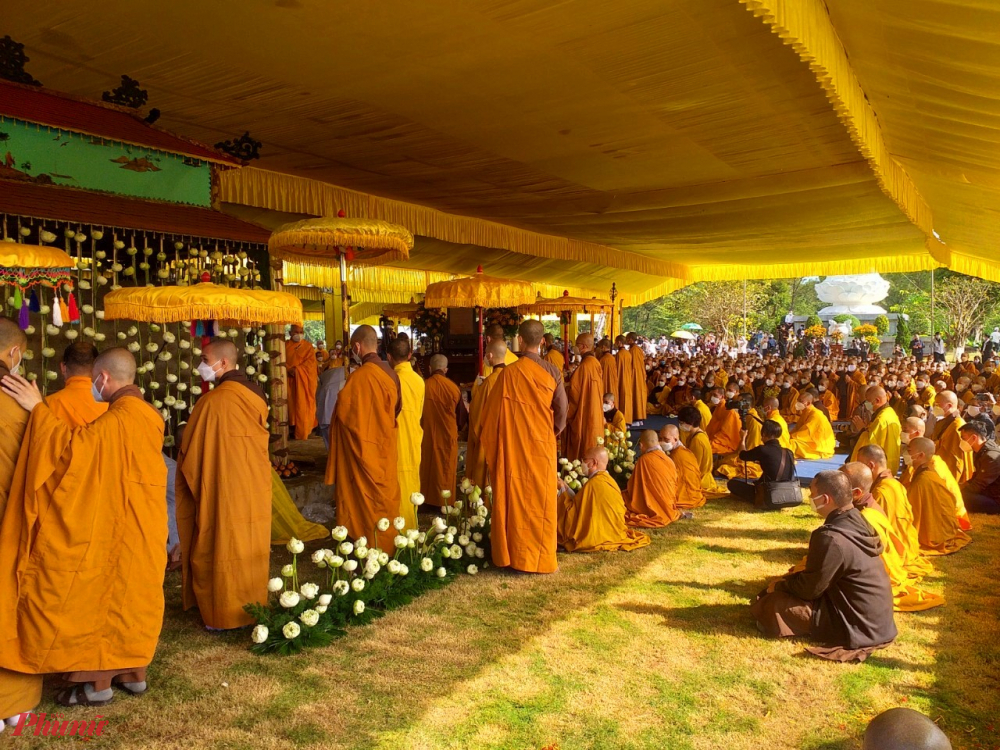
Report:
[[[239,364],[228,339],[203,347],[198,372],[215,387],[195,404],[177,456],[184,609],[197,606],[212,630],[250,625],[243,606],[267,601],[268,407]]]

